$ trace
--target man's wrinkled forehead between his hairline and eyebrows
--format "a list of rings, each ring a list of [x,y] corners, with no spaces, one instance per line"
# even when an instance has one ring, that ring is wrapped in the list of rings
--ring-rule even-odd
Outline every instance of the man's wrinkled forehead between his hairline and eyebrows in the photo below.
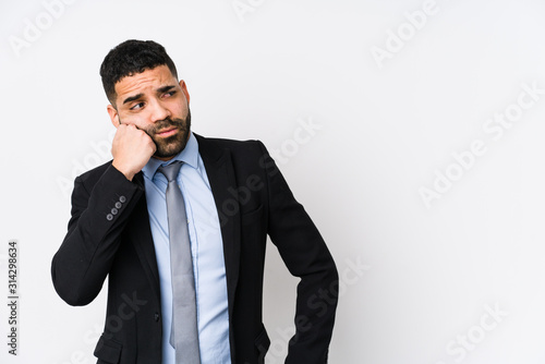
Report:
[[[154,92],[161,86],[175,85],[177,80],[170,73],[166,64],[158,65],[152,70],[145,70],[142,73],[125,76],[116,83],[116,94],[118,99],[123,96],[145,94]]]

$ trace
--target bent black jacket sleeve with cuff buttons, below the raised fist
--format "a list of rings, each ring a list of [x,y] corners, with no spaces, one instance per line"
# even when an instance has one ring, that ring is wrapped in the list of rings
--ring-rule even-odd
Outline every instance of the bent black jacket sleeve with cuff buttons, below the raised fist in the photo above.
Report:
[[[111,165],[98,180],[92,175],[75,180],[68,233],[51,263],[55,289],[71,305],[86,305],[100,292],[123,227],[144,192]]]

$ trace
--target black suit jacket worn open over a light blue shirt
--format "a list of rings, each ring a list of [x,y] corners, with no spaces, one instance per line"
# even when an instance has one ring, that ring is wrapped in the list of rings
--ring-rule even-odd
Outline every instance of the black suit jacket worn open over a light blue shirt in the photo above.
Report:
[[[263,363],[270,343],[262,323],[267,234],[301,277],[286,363],[326,363],[338,274],[318,230],[261,142],[196,137],[220,219],[232,363]],[[129,181],[108,162],[76,178],[51,274],[71,305],[92,302],[109,277],[98,363],[161,363],[159,275],[142,172]]]

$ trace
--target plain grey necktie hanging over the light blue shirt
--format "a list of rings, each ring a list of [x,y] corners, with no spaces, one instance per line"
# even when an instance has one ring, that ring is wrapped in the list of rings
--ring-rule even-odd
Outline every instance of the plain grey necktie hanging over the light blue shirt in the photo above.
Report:
[[[182,161],[160,167],[158,172],[169,181],[167,214],[170,240],[170,270],[172,274],[172,330],[170,344],[175,349],[177,364],[201,364],[198,352],[195,279],[191,258],[187,216],[177,178]]]

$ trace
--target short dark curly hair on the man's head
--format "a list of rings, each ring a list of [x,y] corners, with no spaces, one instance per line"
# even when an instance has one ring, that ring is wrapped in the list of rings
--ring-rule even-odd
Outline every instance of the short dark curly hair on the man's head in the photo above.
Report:
[[[132,76],[146,70],[166,64],[170,73],[178,78],[174,62],[165,47],[153,40],[125,40],[111,49],[100,65],[100,77],[106,97],[116,107],[116,83],[125,76]]]

